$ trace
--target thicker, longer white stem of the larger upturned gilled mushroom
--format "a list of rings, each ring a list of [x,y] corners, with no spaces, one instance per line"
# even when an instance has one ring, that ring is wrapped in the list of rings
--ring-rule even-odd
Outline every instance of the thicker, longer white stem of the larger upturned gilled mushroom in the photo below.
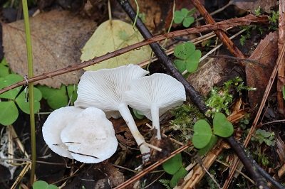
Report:
[[[150,153],[150,148],[144,145],[145,139],[143,138],[142,134],[140,134],[140,131],[138,131],[138,127],[135,124],[135,120],[133,119],[132,114],[130,114],[130,110],[127,104],[121,103],[119,105],[118,111],[125,120],[125,123],[128,125],[128,128],[130,129],[130,132],[133,134],[133,137],[135,138],[135,141],[137,142],[138,146],[140,146],[140,152],[142,154]]]

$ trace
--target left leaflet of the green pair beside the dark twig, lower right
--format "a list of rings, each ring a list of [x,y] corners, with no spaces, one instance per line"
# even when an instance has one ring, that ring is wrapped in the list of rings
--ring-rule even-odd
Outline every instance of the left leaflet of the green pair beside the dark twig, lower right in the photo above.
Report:
[[[209,144],[209,141],[212,138],[212,129],[211,126],[204,119],[198,120],[194,124],[194,134],[192,137],[192,143],[195,148],[204,148]]]

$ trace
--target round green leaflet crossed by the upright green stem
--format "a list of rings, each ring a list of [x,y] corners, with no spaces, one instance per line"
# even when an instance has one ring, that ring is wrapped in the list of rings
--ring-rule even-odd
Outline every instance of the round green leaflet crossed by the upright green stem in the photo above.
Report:
[[[41,100],[41,91],[38,90],[36,87],[33,87],[33,100],[34,100],[34,106],[33,106],[33,113],[36,113],[40,110],[41,104],[40,104],[40,100]],[[30,103],[26,102],[26,97],[25,97],[25,92],[21,92],[21,94],[16,97],[16,103],[18,104],[19,108],[25,112],[26,114],[30,114]]]

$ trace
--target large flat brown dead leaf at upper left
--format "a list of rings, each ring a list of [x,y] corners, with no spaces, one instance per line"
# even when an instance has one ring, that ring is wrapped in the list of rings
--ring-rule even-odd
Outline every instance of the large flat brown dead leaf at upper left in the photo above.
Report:
[[[68,11],[50,11],[30,18],[34,75],[81,63],[81,48],[95,30],[93,21]],[[3,25],[3,45],[11,70],[27,75],[24,21]],[[69,72],[37,83],[49,87],[78,82],[81,72]]]

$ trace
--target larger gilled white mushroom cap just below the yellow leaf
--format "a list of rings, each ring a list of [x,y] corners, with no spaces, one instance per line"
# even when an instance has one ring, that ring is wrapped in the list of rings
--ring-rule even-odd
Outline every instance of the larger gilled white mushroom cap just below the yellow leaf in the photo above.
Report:
[[[113,69],[86,71],[78,84],[76,107],[97,107],[104,112],[118,110],[129,82],[148,72],[138,65],[123,65]],[[112,116],[112,114],[111,114]]]

